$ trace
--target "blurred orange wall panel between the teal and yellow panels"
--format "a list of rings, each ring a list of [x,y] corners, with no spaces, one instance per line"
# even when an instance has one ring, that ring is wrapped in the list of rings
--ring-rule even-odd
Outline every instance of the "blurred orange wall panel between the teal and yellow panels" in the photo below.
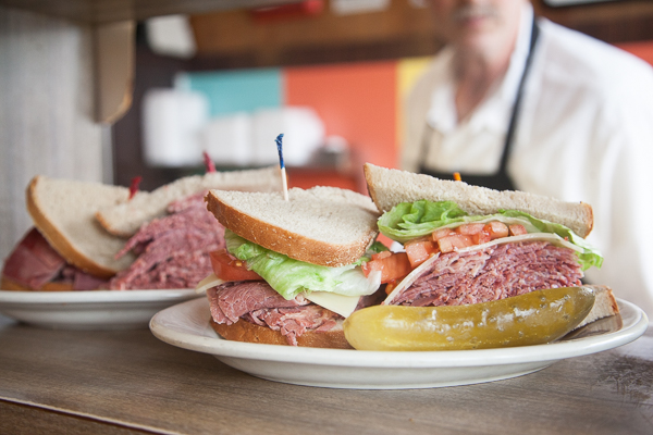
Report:
[[[370,62],[287,67],[284,101],[312,107],[326,135],[344,137],[360,163],[395,167],[396,66]]]

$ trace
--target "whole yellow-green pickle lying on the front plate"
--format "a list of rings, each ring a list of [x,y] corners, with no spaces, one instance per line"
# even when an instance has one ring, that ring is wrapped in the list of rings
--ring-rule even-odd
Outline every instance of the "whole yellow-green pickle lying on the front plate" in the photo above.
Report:
[[[541,345],[563,337],[592,310],[587,287],[535,290],[526,295],[449,307],[373,306],[344,323],[358,350],[463,350]]]

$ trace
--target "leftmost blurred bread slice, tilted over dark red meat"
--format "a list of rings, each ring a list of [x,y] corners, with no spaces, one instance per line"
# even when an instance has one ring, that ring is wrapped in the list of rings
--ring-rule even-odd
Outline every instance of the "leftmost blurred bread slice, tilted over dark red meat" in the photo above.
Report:
[[[95,213],[128,196],[125,187],[40,175],[32,179],[26,192],[27,211],[50,246],[69,263],[102,278],[126,269],[134,257],[114,259],[125,240],[107,233]]]

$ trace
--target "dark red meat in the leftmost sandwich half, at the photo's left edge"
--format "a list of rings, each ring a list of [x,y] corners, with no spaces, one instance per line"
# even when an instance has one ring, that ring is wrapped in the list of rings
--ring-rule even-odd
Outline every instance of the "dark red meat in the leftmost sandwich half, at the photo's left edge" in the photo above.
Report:
[[[66,263],[36,228],[27,232],[7,258],[2,277],[33,290],[95,290],[107,283]]]

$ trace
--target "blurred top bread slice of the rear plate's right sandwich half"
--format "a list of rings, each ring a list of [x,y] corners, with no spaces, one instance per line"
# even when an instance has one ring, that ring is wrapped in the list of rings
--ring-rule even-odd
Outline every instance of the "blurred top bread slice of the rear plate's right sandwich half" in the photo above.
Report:
[[[178,178],[158,189],[138,191],[131,200],[102,208],[96,213],[100,224],[111,234],[122,237],[134,235],[140,225],[165,215],[165,208],[176,199],[209,189],[244,191],[280,191],[279,167],[231,172],[209,172]]]

